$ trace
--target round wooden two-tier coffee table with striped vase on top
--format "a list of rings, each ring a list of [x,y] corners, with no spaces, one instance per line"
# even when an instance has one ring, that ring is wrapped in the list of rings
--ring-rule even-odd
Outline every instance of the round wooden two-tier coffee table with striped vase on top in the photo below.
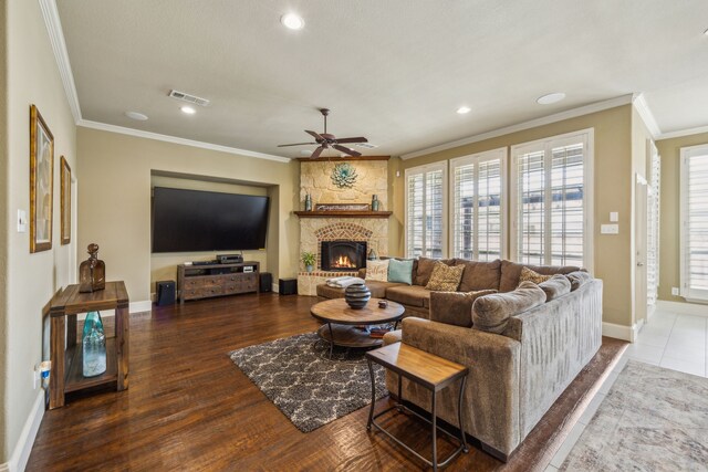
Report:
[[[378,347],[383,339],[371,337],[367,332],[357,326],[379,325],[395,322],[394,329],[403,318],[405,308],[396,302],[387,301],[388,306],[378,307],[381,298],[371,298],[362,310],[352,310],[344,298],[334,298],[312,305],[310,313],[324,323],[317,329],[317,335],[330,343],[330,358],[334,346],[344,347]]]

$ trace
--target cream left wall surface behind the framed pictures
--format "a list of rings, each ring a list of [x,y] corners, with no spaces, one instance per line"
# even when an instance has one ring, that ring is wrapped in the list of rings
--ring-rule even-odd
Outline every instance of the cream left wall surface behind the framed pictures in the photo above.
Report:
[[[59,161],[65,156],[74,175],[76,129],[37,0],[8,0],[7,17],[7,301],[2,371],[4,423],[0,463],[17,458],[23,427],[40,395],[32,371],[42,359],[42,307],[69,283],[75,270],[72,245],[60,242]],[[53,247],[30,254],[30,235],[15,231],[18,209],[30,214],[30,105],[35,104],[54,135]],[[14,453],[14,457],[12,455]]]

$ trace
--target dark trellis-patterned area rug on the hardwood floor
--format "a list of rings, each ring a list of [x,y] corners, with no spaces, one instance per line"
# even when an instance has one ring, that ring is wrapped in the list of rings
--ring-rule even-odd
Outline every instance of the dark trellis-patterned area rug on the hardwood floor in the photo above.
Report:
[[[334,349],[315,333],[229,353],[253,384],[302,432],[371,403],[372,382],[362,349]],[[384,368],[374,365],[376,398],[387,394]]]

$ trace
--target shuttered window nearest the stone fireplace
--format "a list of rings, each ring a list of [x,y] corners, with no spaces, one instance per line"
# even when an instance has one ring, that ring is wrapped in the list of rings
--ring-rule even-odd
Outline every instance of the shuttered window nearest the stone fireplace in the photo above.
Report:
[[[406,169],[406,254],[447,253],[447,162]]]

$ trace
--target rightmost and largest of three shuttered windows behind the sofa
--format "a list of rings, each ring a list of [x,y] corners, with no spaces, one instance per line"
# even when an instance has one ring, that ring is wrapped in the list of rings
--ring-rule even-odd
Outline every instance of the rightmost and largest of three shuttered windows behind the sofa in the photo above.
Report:
[[[593,130],[511,148],[511,258],[592,270]]]

